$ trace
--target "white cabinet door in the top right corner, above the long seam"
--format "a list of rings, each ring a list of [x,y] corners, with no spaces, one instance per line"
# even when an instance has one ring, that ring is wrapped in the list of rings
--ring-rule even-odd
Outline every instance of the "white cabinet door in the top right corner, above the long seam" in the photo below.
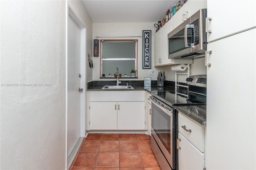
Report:
[[[208,22],[208,29],[212,30],[207,36],[208,42],[256,26],[256,1],[247,0],[245,8],[243,3],[207,0],[207,16],[212,17]]]

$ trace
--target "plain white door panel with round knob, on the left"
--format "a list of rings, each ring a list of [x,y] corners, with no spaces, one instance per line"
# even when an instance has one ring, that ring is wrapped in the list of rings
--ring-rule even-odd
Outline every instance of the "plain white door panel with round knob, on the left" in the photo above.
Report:
[[[81,29],[68,16],[68,156],[80,138]]]

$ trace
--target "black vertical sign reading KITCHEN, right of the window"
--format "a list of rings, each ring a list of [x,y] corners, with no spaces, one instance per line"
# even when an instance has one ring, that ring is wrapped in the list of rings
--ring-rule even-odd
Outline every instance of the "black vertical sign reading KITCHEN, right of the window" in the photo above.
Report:
[[[151,69],[151,30],[142,31],[143,38],[143,67],[142,69]]]

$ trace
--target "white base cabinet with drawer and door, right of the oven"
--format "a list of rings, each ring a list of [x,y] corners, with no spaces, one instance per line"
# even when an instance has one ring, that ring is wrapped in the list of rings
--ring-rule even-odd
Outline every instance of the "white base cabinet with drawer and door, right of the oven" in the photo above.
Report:
[[[202,170],[204,161],[204,132],[202,125],[178,113],[178,167],[179,170]]]

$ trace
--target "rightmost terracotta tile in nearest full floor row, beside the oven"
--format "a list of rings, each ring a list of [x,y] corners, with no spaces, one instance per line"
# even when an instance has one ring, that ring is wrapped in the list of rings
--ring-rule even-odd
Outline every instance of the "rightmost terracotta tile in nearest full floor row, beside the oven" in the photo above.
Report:
[[[160,167],[153,152],[140,152],[144,168]]]

